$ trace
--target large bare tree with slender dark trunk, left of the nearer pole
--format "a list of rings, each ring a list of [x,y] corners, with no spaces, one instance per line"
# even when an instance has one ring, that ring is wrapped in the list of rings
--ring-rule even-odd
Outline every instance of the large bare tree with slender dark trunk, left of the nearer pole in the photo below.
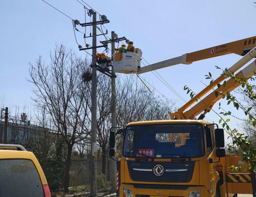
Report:
[[[67,162],[64,175],[64,191],[69,188],[69,169],[72,149],[89,134],[87,120],[87,86],[82,81],[87,61],[76,57],[72,50],[57,45],[50,52],[50,64],[42,58],[30,63],[30,81],[34,84],[33,98],[39,108],[51,117],[58,133],[67,144]]]

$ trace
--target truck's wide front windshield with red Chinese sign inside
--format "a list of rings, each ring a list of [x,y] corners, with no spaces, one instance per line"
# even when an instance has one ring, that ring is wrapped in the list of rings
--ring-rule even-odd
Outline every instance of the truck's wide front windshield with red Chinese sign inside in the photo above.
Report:
[[[126,128],[123,156],[152,158],[201,157],[202,125],[139,125]]]

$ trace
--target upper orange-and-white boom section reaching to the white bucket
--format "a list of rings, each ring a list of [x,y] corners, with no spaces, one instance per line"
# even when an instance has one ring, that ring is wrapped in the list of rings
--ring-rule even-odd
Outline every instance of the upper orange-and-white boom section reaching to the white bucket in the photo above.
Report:
[[[160,68],[165,68],[177,64],[192,64],[194,61],[204,60],[207,58],[217,57],[231,53],[244,56],[253,47],[256,47],[256,36],[245,38],[242,40],[237,40],[231,43],[217,45],[215,47],[206,48],[200,51],[186,53],[179,57],[147,65],[139,68],[137,74],[142,74],[145,72],[154,71]]]

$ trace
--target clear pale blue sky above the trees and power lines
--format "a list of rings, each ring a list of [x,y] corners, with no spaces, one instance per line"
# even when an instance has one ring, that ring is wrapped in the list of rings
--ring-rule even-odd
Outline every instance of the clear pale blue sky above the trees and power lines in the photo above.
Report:
[[[46,1],[69,17],[84,22],[84,8],[77,0]],[[119,37],[125,36],[133,41],[134,46],[143,51],[143,58],[149,64],[186,52],[252,37],[256,33],[256,7],[253,0],[84,2],[110,20],[110,23],[105,24],[109,37],[111,31],[115,31]],[[87,17],[87,22],[88,20],[90,19]],[[0,98],[4,97],[4,107],[14,109],[15,106],[22,108],[25,104],[33,105],[33,86],[27,81],[29,62],[34,63],[39,55],[45,62],[49,62],[49,52],[55,43],[63,43],[67,48],[77,51],[77,55],[86,57],[85,52],[78,50],[72,20],[42,0],[2,0],[0,26]],[[82,27],[77,28],[84,31]],[[90,29],[87,28],[86,32],[89,33]],[[79,44],[84,46],[83,34],[76,33],[76,36]],[[97,39],[102,41],[104,37]],[[90,43],[90,38],[87,42]],[[212,73],[213,78],[221,74],[221,71],[215,68],[216,65],[224,69],[240,58],[239,55],[230,54],[193,62],[190,65],[175,65],[157,72],[188,101],[189,95],[183,90],[184,85],[188,85],[194,92],[199,92],[205,87],[203,83],[209,84],[205,79],[208,72]],[[142,74],[141,77],[153,84],[167,98],[176,100],[177,106],[184,104],[151,72]],[[242,111],[235,111],[234,108],[226,106],[224,101],[221,103],[227,111],[232,110],[234,115],[244,118]],[[218,105],[213,109],[220,112]],[[215,123],[219,120],[214,112],[208,113],[206,117]],[[239,120],[234,118],[230,121],[232,128],[237,128],[239,123]]]

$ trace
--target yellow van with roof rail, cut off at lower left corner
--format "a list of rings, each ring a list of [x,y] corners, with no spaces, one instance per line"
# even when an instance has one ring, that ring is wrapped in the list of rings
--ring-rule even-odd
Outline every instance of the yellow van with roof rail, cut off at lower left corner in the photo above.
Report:
[[[21,145],[0,144],[0,197],[51,197],[38,160]]]

